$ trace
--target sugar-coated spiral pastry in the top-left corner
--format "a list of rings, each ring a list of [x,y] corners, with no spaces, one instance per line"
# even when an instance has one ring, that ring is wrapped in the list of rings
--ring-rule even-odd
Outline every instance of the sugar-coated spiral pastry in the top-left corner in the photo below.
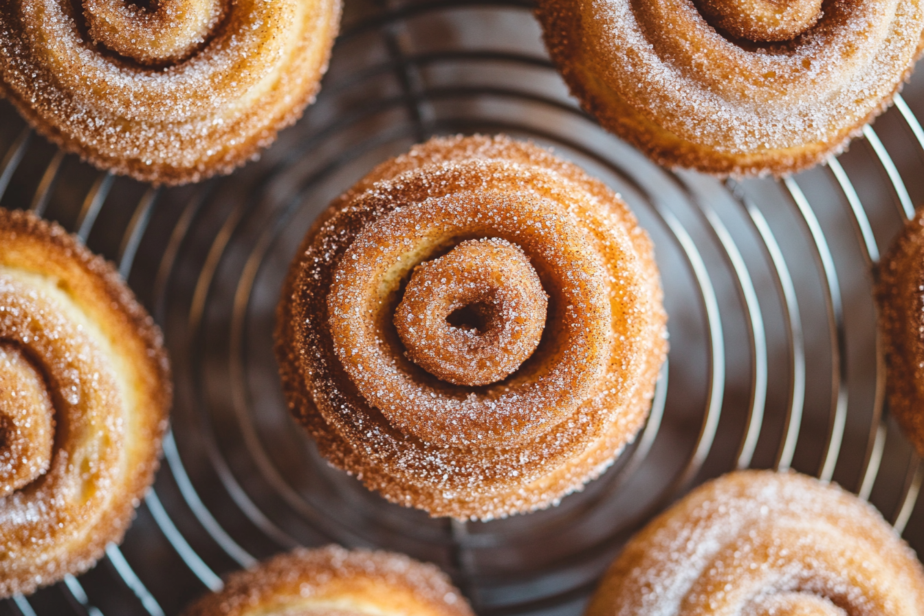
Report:
[[[101,169],[198,182],[298,119],[339,20],[340,0],[10,0],[0,94]]]

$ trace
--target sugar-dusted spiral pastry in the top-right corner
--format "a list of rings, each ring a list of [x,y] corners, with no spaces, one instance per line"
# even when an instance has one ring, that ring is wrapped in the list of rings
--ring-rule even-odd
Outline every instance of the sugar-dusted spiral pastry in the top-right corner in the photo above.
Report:
[[[785,175],[842,151],[920,54],[921,0],[539,0],[603,127],[668,166]]]

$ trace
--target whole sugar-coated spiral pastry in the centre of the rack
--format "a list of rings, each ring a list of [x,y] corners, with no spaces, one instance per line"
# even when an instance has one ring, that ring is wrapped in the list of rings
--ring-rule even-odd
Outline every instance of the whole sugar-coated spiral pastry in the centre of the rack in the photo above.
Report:
[[[276,351],[334,465],[490,519],[579,489],[634,438],[665,319],[648,236],[612,191],[528,143],[432,139],[315,223]]]

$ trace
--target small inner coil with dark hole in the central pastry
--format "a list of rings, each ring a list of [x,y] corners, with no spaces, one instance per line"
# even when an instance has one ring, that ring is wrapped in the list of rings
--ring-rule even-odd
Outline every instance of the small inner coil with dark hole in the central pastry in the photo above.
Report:
[[[521,248],[462,242],[421,263],[395,310],[407,357],[456,385],[504,380],[539,345],[548,298]]]

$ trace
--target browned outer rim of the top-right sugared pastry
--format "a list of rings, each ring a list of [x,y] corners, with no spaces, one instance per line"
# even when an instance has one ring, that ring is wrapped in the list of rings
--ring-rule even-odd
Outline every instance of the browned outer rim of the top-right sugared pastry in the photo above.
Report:
[[[803,171],[823,162],[829,155],[845,151],[850,139],[857,137],[866,124],[892,105],[894,95],[901,91],[914,70],[912,63],[890,96],[860,122],[832,135],[827,141],[751,154],[717,151],[681,139],[659,126],[596,78],[592,67],[582,62],[581,16],[574,4],[573,0],[538,0],[536,7],[542,39],[554,65],[565,79],[568,90],[585,111],[597,118],[602,127],[626,139],[651,160],[668,168],[696,169],[719,177],[782,177]],[[922,52],[924,36],[918,43],[915,60]]]

